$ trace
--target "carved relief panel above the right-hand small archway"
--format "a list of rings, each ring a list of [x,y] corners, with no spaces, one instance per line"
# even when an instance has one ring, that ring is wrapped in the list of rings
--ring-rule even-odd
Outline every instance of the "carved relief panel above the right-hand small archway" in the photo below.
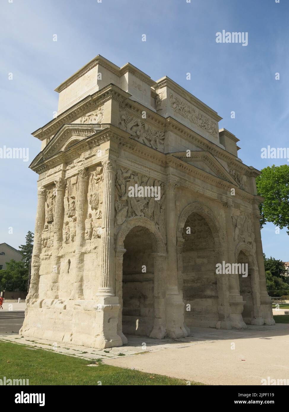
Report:
[[[238,243],[247,243],[255,253],[256,243],[251,215],[249,213],[238,214],[238,212],[240,211],[235,209],[235,213],[232,216],[234,240]]]

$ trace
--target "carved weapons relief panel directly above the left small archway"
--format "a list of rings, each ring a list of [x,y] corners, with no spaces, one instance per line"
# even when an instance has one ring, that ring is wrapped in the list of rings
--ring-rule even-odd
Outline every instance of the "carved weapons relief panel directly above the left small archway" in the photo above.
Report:
[[[129,187],[160,187],[160,199],[130,197]],[[166,242],[164,183],[130,169],[118,169],[115,175],[115,235],[126,218],[146,217],[155,223]]]

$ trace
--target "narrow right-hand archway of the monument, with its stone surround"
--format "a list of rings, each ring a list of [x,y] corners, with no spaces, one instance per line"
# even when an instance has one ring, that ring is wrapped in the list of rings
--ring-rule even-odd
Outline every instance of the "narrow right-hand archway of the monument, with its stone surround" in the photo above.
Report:
[[[247,243],[239,243],[235,250],[236,263],[248,265],[248,275],[239,274],[239,290],[244,301],[242,318],[249,325],[263,325],[261,314],[260,282],[258,264],[254,257],[254,251]]]

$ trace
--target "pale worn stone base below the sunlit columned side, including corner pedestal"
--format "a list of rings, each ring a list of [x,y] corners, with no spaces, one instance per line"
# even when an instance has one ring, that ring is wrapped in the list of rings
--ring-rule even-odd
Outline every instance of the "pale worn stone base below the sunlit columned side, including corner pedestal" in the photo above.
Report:
[[[116,333],[118,304],[57,299],[29,300],[26,304],[25,319],[19,331],[24,337],[97,349],[122,346],[122,339]]]

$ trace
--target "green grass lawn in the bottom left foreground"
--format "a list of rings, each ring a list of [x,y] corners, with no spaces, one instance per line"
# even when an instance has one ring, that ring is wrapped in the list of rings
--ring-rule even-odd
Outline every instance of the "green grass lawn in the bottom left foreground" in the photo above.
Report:
[[[29,385],[186,385],[186,381],[137,370],[104,365],[92,360],[0,341],[1,376],[29,379]],[[191,385],[202,385],[191,382]]]

